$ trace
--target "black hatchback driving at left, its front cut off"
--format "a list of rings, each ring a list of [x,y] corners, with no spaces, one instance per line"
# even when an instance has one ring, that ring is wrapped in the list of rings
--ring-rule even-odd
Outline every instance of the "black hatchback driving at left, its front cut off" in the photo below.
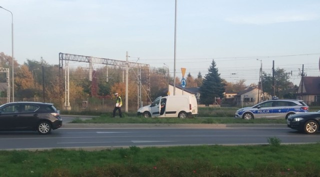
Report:
[[[48,134],[61,126],[59,111],[51,103],[11,102],[0,106],[0,131]]]

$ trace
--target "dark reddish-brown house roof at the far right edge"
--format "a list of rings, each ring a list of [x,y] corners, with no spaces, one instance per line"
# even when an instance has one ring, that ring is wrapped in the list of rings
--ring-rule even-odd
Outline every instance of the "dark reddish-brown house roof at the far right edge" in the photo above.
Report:
[[[305,93],[303,94],[320,95],[320,77],[304,76],[303,86],[305,88]],[[299,90],[297,91],[297,93],[299,93]]]

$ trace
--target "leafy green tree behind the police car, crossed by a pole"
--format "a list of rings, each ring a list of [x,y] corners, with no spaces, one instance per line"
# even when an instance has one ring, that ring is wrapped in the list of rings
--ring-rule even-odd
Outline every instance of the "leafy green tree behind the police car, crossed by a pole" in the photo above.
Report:
[[[272,75],[269,73],[263,72],[262,78],[262,86],[263,92],[266,92],[270,95],[277,96],[279,98],[283,98],[283,94],[286,93],[287,89],[289,89],[289,82],[290,76],[288,73],[285,72],[284,69],[277,68],[274,71],[274,94],[273,94],[273,87],[272,87]]]

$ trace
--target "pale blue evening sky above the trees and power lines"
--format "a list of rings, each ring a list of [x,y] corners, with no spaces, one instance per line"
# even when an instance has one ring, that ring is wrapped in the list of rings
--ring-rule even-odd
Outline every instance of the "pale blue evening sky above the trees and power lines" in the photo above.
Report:
[[[247,85],[259,70],[292,72],[298,85],[319,76],[318,0],[1,0],[13,14],[13,51],[26,60],[59,64],[59,52],[163,67],[202,77],[212,60],[222,79]],[[11,56],[11,14],[0,9],[0,52]],[[70,66],[78,67],[78,63]],[[86,67],[86,63],[81,64]],[[186,77],[186,76],[185,76]]]

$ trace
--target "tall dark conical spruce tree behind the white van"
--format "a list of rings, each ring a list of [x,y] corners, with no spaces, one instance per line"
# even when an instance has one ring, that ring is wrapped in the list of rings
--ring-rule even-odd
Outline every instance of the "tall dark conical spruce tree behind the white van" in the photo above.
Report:
[[[223,98],[224,84],[212,60],[211,66],[208,69],[208,74],[204,76],[200,91],[200,103],[209,105],[214,101],[214,97]]]

